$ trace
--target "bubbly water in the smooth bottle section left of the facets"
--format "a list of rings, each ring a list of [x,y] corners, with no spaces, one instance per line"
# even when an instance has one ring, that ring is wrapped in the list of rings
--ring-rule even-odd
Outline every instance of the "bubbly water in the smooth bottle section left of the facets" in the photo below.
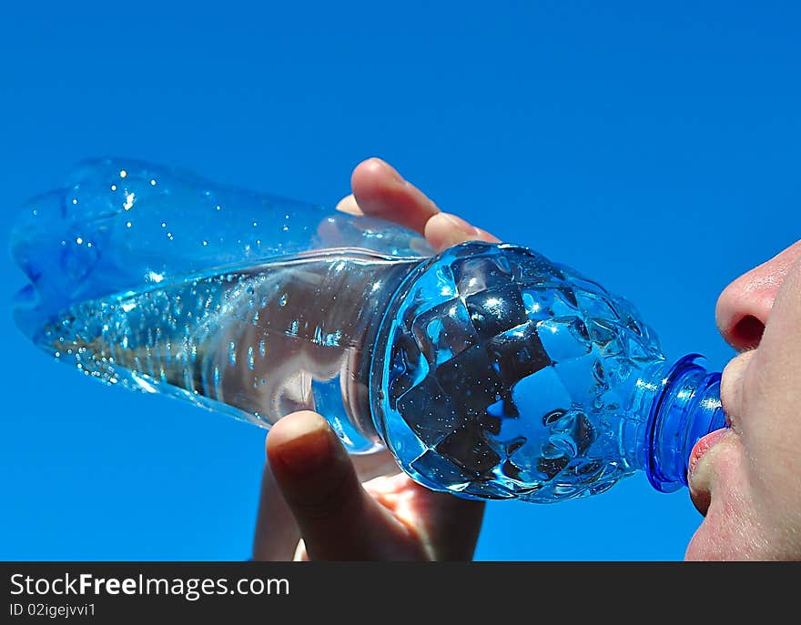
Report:
[[[261,426],[317,410],[353,452],[380,447],[356,405],[380,289],[410,261],[332,249],[81,302],[38,342],[86,376]],[[367,346],[370,348],[370,346]]]

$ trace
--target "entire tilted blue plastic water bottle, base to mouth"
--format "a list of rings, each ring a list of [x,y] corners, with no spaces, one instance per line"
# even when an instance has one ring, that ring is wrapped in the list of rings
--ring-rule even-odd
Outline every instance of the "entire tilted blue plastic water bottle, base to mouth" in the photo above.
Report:
[[[86,376],[269,427],[299,409],[431,489],[553,502],[686,484],[720,374],[526,247],[434,255],[388,222],[131,160],[80,166],[13,234],[25,335]]]

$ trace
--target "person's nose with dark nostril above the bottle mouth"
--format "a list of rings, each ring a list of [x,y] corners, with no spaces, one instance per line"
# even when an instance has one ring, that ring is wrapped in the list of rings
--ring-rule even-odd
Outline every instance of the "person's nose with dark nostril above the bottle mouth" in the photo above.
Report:
[[[720,294],[715,308],[717,328],[738,351],[759,345],[776,292],[790,267],[801,258],[801,241],[735,279]]]

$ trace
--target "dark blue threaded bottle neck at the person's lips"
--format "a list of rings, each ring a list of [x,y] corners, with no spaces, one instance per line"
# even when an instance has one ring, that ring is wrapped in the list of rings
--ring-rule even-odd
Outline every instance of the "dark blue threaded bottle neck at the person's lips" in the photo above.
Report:
[[[720,373],[708,373],[690,354],[672,367],[660,367],[637,383],[638,419],[634,464],[654,489],[673,492],[687,486],[690,454],[698,439],[725,428]]]

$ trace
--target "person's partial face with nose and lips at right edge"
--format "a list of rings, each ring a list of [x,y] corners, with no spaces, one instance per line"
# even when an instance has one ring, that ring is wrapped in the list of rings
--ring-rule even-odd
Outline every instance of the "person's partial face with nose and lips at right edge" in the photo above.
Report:
[[[721,385],[731,428],[694,450],[705,519],[685,558],[801,559],[801,241],[726,287],[715,315],[740,351]]]

